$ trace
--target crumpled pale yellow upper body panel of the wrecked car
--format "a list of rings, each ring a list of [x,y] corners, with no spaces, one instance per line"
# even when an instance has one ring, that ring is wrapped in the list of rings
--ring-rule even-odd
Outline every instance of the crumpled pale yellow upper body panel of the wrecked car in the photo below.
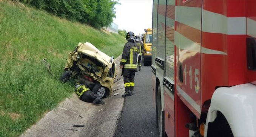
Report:
[[[93,57],[99,60],[103,65],[112,66],[111,57],[109,57],[105,53],[98,50],[96,47],[94,47],[93,44],[89,42],[86,42],[86,43],[79,42],[77,47],[78,47],[77,48],[78,53],[83,53],[87,56]]]

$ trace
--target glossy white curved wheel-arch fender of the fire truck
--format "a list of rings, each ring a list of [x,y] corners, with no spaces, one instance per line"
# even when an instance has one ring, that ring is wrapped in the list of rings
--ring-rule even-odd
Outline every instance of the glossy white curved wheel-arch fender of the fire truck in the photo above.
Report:
[[[256,85],[241,84],[233,87],[220,87],[213,93],[208,110],[208,122],[213,122],[220,111],[227,119],[235,137],[256,136]]]

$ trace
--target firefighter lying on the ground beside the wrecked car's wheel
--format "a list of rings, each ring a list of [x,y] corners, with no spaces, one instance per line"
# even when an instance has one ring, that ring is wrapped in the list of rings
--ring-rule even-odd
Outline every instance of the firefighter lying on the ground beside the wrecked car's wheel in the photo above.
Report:
[[[102,100],[100,96],[92,92],[85,85],[77,83],[75,92],[78,95],[79,99],[81,99],[82,101],[93,104],[105,104],[105,102]]]

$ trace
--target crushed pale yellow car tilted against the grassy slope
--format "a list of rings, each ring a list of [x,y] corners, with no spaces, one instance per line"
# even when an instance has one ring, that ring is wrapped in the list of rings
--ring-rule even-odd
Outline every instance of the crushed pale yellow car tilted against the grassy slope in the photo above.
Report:
[[[80,42],[69,53],[61,80],[75,79],[104,98],[112,92],[115,77],[114,57],[109,57],[89,42]]]

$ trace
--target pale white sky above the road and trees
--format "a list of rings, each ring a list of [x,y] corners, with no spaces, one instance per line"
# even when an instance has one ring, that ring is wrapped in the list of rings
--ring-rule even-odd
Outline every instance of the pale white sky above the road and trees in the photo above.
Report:
[[[116,5],[116,18],[113,22],[118,29],[131,31],[135,35],[152,27],[153,0],[119,0]]]

